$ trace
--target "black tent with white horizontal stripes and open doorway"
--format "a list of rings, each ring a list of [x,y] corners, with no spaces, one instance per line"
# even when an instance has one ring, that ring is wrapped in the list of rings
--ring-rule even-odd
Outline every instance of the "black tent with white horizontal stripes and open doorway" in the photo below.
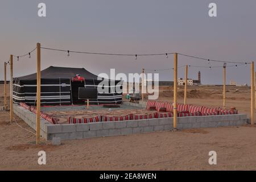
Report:
[[[80,75],[84,81],[72,81],[73,77]],[[79,87],[98,88],[102,80],[84,68],[49,67],[41,71],[41,104],[42,105],[71,105],[82,104],[78,99]],[[105,80],[106,81],[106,80]],[[116,92],[115,88],[122,90],[122,82],[114,81],[114,85],[101,86],[108,88],[109,92],[98,92],[97,100],[89,100],[90,104],[122,104],[122,92]],[[14,78],[13,102],[25,102],[28,105],[36,105],[36,73]]]

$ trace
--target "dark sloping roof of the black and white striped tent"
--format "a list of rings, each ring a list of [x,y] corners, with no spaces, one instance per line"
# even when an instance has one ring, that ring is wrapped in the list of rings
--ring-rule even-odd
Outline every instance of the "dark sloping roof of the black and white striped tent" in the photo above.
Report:
[[[41,71],[42,79],[55,79],[55,78],[73,78],[77,74],[84,77],[85,80],[97,80],[98,76],[93,75],[84,68],[67,68],[67,67],[49,67]],[[36,73],[31,75],[18,77],[19,80],[36,80]]]

